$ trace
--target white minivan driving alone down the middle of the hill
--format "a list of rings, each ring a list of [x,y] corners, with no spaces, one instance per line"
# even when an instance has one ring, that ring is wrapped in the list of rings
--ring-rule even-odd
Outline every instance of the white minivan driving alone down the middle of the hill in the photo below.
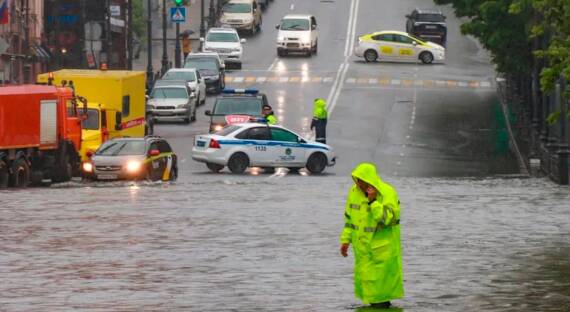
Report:
[[[277,55],[285,56],[289,52],[317,54],[318,31],[317,19],[312,15],[285,15],[277,33]]]

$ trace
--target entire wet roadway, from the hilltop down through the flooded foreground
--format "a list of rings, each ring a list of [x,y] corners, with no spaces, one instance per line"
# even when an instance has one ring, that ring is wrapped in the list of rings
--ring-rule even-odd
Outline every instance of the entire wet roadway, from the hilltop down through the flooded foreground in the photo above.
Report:
[[[307,135],[312,100],[329,99],[339,160],[325,175],[210,174],[190,157],[210,97],[190,126],[157,127],[180,159],[174,184],[0,192],[0,311],[369,310],[353,297],[352,259],[338,255],[360,161],[402,201],[406,297],[392,310],[570,310],[569,191],[519,177],[493,68],[449,8],[445,65],[347,53],[347,36],[401,30],[415,6],[426,5],[276,0],[247,37],[229,87],[259,88]],[[317,56],[276,58],[274,25],[289,12],[316,15]]]

